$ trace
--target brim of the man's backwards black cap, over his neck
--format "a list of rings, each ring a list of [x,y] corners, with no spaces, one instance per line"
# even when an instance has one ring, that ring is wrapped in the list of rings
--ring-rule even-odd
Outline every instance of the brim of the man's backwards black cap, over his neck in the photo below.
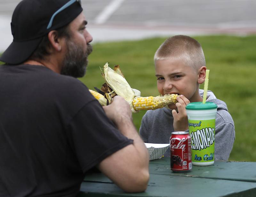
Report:
[[[26,42],[12,42],[0,57],[0,61],[6,64],[23,63],[32,55],[43,37]]]

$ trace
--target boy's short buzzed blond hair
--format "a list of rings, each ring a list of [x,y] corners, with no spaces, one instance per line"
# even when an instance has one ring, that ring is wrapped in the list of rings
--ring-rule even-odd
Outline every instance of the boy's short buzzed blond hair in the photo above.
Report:
[[[166,39],[156,50],[154,61],[169,58],[184,60],[195,69],[205,66],[204,52],[200,43],[186,35],[175,35]]]

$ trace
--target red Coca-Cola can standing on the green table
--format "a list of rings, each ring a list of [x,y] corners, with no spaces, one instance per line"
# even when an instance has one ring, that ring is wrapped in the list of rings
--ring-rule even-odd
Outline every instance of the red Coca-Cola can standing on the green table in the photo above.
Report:
[[[170,138],[171,170],[188,172],[192,169],[191,138],[188,132],[172,132]]]

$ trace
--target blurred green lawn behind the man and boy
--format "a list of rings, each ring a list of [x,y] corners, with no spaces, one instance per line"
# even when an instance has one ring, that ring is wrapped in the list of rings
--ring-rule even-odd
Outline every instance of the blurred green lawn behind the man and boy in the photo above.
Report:
[[[206,66],[210,69],[208,89],[227,103],[235,122],[236,140],[229,160],[256,162],[256,35],[194,38],[201,43]],[[106,62],[112,68],[119,64],[131,87],[139,89],[142,96],[156,96],[158,91],[153,57],[165,39],[94,44],[87,73],[80,80],[90,89],[100,88],[104,83],[100,67]],[[133,114],[138,130],[144,113],[140,111]]]

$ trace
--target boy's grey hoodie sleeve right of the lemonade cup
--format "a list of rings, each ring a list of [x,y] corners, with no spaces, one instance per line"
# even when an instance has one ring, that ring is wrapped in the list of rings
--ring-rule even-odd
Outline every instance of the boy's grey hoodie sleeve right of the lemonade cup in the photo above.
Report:
[[[223,123],[215,128],[215,160],[228,161],[235,141],[235,128],[231,123]]]

